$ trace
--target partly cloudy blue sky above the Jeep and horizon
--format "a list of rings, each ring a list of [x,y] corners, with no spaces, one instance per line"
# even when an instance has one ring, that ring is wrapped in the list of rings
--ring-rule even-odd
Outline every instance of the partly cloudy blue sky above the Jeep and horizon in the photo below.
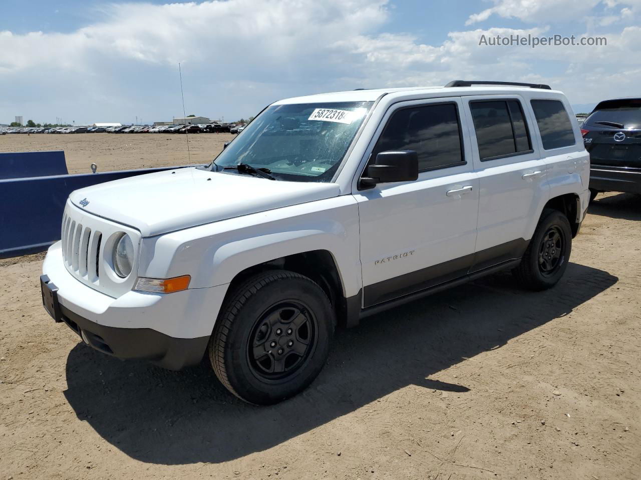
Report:
[[[607,45],[488,45],[510,36]],[[485,38],[486,43],[479,45]],[[641,96],[641,0],[0,3],[0,124],[238,120],[310,93],[547,83],[576,113]]]

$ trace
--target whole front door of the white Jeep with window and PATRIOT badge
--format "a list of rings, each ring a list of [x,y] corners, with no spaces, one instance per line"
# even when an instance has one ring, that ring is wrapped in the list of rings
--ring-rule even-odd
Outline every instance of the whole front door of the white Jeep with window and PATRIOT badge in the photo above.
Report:
[[[370,161],[415,150],[419,178],[358,191],[363,307],[467,273],[476,241],[478,180],[462,132],[461,100],[412,100],[390,108]]]

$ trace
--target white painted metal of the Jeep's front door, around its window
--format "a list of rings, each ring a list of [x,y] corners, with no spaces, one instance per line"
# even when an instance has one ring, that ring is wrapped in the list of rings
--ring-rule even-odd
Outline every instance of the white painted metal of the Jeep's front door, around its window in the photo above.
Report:
[[[462,108],[460,98],[398,102],[383,116],[365,156],[369,157],[383,125],[396,109],[432,102],[455,102],[459,111]],[[471,156],[465,135],[463,155],[466,159]],[[447,196],[447,191],[467,186],[471,191]],[[363,286],[474,253],[478,191],[471,161],[421,172],[413,182],[378,184],[354,191],[360,215]],[[403,257],[395,259],[399,254]],[[391,261],[387,260],[390,257]]]

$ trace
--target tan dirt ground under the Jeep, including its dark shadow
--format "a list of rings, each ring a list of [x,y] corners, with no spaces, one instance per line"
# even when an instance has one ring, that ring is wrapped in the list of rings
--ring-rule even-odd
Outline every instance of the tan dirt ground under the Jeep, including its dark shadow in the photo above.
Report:
[[[114,137],[144,157],[127,165],[161,157]],[[169,372],[88,348],[42,308],[43,255],[0,260],[0,480],[638,479],[640,236],[641,198],[599,195],[554,289],[501,273],[371,317],[271,407],[206,362]]]

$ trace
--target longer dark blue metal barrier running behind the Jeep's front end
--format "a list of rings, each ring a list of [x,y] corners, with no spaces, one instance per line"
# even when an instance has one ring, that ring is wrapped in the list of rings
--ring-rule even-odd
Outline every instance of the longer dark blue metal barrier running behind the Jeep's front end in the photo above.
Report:
[[[0,259],[42,252],[60,240],[62,212],[72,191],[176,168],[184,167],[0,180]]]

